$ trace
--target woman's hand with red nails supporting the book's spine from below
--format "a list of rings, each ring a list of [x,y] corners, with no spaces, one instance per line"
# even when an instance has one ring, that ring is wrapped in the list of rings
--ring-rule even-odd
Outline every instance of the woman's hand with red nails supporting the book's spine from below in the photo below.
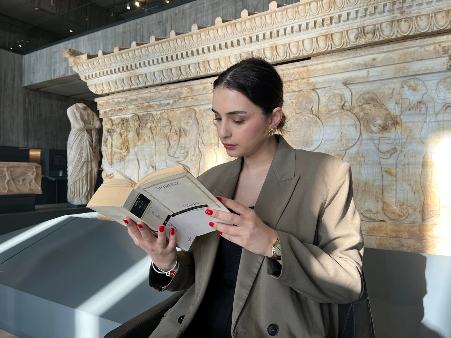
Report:
[[[174,228],[171,228],[169,242],[166,242],[166,227],[164,225],[159,226],[158,237],[155,238],[147,225],[141,221],[136,224],[129,217],[125,217],[124,223],[129,228],[128,233],[133,242],[147,252],[158,269],[168,271],[174,267],[177,261],[177,235]]]

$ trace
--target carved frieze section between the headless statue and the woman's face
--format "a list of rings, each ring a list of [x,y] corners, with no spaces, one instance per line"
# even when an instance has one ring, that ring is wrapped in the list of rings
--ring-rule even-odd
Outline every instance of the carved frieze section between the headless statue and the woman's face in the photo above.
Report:
[[[138,181],[154,170],[183,164],[198,176],[230,160],[210,109],[171,110],[103,119],[103,178],[117,169]]]

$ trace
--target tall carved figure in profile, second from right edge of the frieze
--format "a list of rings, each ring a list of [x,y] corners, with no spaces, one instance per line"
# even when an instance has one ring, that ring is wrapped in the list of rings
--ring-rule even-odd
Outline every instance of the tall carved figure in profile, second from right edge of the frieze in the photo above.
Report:
[[[396,206],[403,215],[416,219],[422,213],[423,190],[420,183],[423,156],[426,147],[421,140],[426,116],[428,114],[424,94],[426,85],[418,78],[411,78],[401,83],[396,100],[396,114],[400,118],[398,144],[400,151],[396,159],[397,201]],[[404,105],[404,102],[407,103]]]

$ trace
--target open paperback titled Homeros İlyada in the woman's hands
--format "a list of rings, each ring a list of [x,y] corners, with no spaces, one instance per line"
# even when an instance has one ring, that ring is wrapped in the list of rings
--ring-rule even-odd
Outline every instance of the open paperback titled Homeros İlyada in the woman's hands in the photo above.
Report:
[[[122,225],[124,216],[135,223],[141,220],[155,236],[161,224],[168,238],[174,228],[183,250],[196,236],[214,231],[208,223],[217,219],[205,214],[206,209],[230,212],[181,164],[147,174],[138,183],[118,173],[123,178],[106,179],[87,207]]]

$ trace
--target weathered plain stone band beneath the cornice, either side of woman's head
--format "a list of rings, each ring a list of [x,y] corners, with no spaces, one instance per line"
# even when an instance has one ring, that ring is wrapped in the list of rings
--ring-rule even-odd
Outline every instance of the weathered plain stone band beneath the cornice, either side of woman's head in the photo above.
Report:
[[[437,48],[437,46],[440,46]],[[368,81],[368,72],[381,67],[412,63],[422,60],[428,63],[429,72],[443,72],[451,58],[449,34],[437,34],[414,40],[396,41],[378,46],[347,50],[339,55],[329,54],[299,63],[276,65],[284,81],[284,93],[311,90],[318,87],[340,86]],[[439,60],[439,61],[437,61]],[[346,65],[345,73],[343,65]],[[426,69],[424,69],[426,70]],[[420,74],[421,68],[417,68]],[[409,67],[396,69],[396,76],[417,76]],[[357,72],[357,73],[355,73]],[[350,74],[353,73],[351,76]],[[341,74],[341,75],[339,75]],[[378,79],[390,79],[393,72],[378,73]],[[338,78],[338,82],[337,82]],[[211,108],[213,81],[216,77],[190,82],[170,83],[125,91],[96,99],[100,117],[116,117],[130,114],[159,113],[162,111],[206,105]]]

